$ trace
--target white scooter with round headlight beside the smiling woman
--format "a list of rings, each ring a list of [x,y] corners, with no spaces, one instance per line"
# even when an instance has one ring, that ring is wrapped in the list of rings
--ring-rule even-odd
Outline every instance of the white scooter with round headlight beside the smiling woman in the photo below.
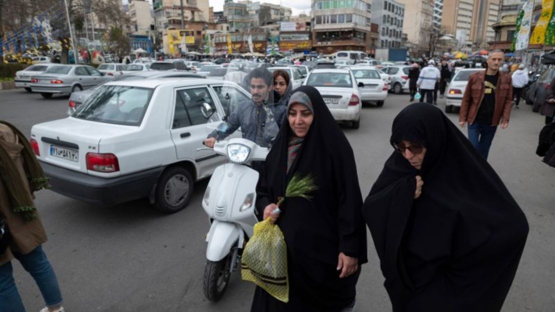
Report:
[[[211,222],[204,267],[204,295],[210,301],[224,294],[231,273],[241,263],[246,241],[253,236],[258,222],[254,203],[259,174],[247,164],[265,160],[268,148],[233,138],[216,142],[214,152],[227,157],[229,163],[215,169],[203,198]]]

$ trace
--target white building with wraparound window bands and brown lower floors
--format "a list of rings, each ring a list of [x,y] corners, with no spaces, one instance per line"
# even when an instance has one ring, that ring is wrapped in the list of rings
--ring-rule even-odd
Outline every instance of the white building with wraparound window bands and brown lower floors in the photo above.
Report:
[[[312,47],[319,53],[368,51],[370,0],[312,0]]]

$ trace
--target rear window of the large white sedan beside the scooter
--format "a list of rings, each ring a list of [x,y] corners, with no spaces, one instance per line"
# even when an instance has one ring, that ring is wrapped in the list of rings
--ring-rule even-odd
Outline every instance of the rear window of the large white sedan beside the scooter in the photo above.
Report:
[[[94,92],[72,117],[95,122],[140,125],[153,89],[103,85]]]

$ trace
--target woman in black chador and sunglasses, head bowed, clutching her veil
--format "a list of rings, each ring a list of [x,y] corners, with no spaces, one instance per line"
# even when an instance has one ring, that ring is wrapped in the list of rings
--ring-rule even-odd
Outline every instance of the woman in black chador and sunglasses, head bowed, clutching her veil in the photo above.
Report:
[[[362,214],[393,311],[501,310],[528,235],[524,213],[440,109],[403,109],[391,144]]]

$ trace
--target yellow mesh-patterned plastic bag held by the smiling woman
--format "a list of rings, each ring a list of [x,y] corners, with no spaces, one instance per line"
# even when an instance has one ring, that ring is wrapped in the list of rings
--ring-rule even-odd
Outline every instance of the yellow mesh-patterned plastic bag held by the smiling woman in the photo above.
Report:
[[[280,228],[269,220],[254,225],[254,235],[241,257],[241,276],[286,303],[289,301],[287,248]]]

